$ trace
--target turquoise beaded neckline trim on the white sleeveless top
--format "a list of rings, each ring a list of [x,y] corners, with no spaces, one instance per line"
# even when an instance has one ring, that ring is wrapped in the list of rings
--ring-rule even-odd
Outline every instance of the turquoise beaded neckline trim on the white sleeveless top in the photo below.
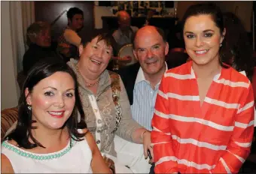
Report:
[[[50,160],[50,159],[62,157],[64,154],[68,153],[70,149],[75,145],[75,143],[76,141],[71,138],[69,139],[69,142],[67,143],[65,148],[62,148],[59,151],[48,153],[48,154],[38,154],[38,153],[26,151],[15,145],[12,145],[10,142],[8,142],[8,139],[2,142],[2,146],[4,146],[5,148],[11,151],[14,151],[14,153],[19,154],[20,156],[23,156],[23,157],[29,157],[35,160]]]

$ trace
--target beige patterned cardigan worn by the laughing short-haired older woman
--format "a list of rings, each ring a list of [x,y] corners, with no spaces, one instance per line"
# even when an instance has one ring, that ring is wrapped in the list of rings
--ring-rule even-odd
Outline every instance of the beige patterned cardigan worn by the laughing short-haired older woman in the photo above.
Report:
[[[86,86],[84,86],[84,79],[81,77],[81,74],[76,70],[76,65],[78,61],[71,58],[68,65],[75,71],[75,74],[78,77],[79,84],[79,93],[81,96],[81,101],[83,105],[83,110],[85,113],[85,121],[90,132],[93,134],[96,139],[96,133],[100,134],[100,139],[96,139],[96,143],[101,143],[99,150],[117,156],[116,151],[114,151],[114,135],[126,139],[130,142],[133,142],[132,134],[137,128],[141,126],[133,120],[130,112],[130,104],[126,95],[126,90],[124,89],[123,82],[120,80],[120,94],[119,94],[119,104],[121,108],[122,121],[120,122],[119,127],[116,131],[116,111],[115,105],[112,98],[111,91],[111,79],[109,77],[108,71],[103,71],[100,75],[99,88],[96,95],[96,104],[99,107],[99,113],[101,119],[96,118],[96,115],[93,113],[93,107],[90,103],[90,95],[93,95]],[[97,125],[100,124],[101,128],[98,129]]]

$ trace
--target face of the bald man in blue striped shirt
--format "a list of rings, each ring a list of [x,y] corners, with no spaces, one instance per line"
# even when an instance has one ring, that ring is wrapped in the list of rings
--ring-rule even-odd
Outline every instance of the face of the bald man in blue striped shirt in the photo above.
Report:
[[[155,28],[143,28],[135,38],[134,55],[145,74],[157,74],[165,69],[165,55],[169,45]]]

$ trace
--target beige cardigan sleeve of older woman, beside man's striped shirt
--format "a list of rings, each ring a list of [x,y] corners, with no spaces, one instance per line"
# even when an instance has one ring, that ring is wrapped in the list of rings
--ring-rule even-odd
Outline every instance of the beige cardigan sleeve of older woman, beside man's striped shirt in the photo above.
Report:
[[[119,77],[120,78],[120,77]],[[133,132],[138,128],[143,128],[139,123],[133,120],[132,113],[130,110],[129,99],[126,94],[126,90],[123,86],[123,81],[120,78],[120,98],[119,104],[122,110],[122,121],[116,131],[117,135],[126,139],[127,141],[133,142]]]

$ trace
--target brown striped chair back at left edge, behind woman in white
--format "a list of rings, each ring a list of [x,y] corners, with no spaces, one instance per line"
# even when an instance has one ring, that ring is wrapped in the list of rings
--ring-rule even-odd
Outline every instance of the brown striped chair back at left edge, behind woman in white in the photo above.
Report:
[[[18,108],[13,107],[1,111],[1,142],[5,137],[7,130],[18,119]]]

